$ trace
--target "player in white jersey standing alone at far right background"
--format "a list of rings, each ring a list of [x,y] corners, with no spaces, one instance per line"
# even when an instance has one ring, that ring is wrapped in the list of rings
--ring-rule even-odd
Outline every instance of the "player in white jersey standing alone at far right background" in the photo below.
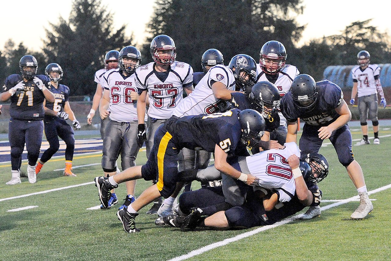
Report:
[[[377,119],[377,94],[380,95],[380,104],[386,108],[382,84],[380,83],[380,67],[377,64],[369,64],[371,55],[367,51],[357,54],[357,63],[352,69],[353,89],[350,104],[353,105],[358,95],[358,107],[363,138],[360,145],[370,144],[368,140],[368,119],[372,121],[373,144],[380,144],[379,121]]]

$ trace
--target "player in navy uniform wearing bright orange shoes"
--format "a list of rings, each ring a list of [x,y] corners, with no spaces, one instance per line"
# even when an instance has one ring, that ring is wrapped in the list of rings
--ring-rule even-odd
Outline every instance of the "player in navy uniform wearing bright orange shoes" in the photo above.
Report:
[[[43,164],[47,162],[60,147],[58,137],[65,141],[65,170],[64,176],[76,176],[72,173],[72,159],[75,149],[75,137],[72,127],[66,120],[69,118],[72,121],[72,126],[75,129],[80,129],[81,125],[75,118],[75,114],[69,105],[69,88],[66,85],[59,83],[63,77],[63,69],[57,63],[49,63],[45,68],[45,74],[50,79],[48,89],[54,94],[54,102],[44,101],[43,108],[45,109],[45,136],[49,142],[49,148],[43,152],[39,160],[35,173],[41,171]]]

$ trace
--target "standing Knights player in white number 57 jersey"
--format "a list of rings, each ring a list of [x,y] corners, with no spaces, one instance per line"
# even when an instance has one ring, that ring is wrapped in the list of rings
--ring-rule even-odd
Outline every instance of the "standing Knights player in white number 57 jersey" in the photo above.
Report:
[[[147,156],[152,148],[157,128],[171,117],[178,103],[183,100],[183,90],[187,95],[193,90],[193,69],[189,64],[175,60],[176,47],[170,36],[155,36],[151,41],[150,51],[154,62],[139,67],[135,72],[139,94],[137,138],[140,147],[145,140]],[[148,137],[144,120],[147,100]],[[148,214],[157,213],[158,207],[160,202],[156,201]]]

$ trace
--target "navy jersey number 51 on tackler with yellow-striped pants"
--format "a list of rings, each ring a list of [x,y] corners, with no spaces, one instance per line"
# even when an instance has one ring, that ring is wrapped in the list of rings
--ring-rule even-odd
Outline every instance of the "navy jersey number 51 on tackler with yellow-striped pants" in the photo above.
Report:
[[[239,112],[239,109],[231,109],[222,113],[184,116],[168,121],[167,130],[179,149],[214,152],[217,144],[228,154],[248,155],[246,146],[240,141]]]

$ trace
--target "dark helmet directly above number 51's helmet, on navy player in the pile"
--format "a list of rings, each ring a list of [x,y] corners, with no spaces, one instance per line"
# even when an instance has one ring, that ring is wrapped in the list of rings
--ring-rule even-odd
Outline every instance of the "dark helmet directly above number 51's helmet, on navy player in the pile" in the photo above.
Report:
[[[271,82],[255,83],[249,98],[253,109],[260,112],[265,118],[277,113],[278,107],[280,107],[280,92]]]

